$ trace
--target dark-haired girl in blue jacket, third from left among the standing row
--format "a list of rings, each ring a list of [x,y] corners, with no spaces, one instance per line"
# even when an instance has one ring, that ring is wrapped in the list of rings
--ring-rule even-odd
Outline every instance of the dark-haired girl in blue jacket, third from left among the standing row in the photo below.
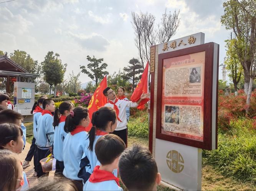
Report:
[[[87,108],[78,106],[66,117],[64,131],[68,133],[63,142],[63,175],[74,180],[79,190],[83,189],[83,179],[78,178],[79,160],[83,156],[88,138],[88,125],[90,123]]]

